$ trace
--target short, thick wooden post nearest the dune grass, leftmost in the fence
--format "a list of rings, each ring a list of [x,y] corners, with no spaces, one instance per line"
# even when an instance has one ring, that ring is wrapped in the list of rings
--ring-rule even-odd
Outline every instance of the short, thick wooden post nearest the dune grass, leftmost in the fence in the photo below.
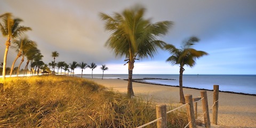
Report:
[[[166,128],[167,119],[166,119],[166,105],[156,105],[156,118],[162,119],[157,121],[157,128]]]

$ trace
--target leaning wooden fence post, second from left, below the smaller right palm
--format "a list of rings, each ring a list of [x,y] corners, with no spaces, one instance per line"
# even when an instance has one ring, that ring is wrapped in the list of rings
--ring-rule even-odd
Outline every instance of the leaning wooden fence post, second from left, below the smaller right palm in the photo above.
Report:
[[[196,120],[195,120],[195,114],[194,114],[194,108],[193,108],[192,95],[185,95],[185,100],[186,100],[186,103],[188,103],[187,114],[188,114],[188,122],[190,122],[189,127],[196,128]]]

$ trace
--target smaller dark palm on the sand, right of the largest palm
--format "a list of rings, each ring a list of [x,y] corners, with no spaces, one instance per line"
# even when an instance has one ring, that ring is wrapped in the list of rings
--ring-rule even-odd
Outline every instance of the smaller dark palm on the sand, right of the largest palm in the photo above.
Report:
[[[165,49],[169,51],[172,56],[169,57],[166,61],[169,61],[172,65],[180,65],[180,76],[179,76],[179,84],[180,84],[180,102],[185,103],[185,97],[183,94],[183,85],[182,85],[182,75],[185,69],[183,66],[193,67],[196,65],[196,59],[202,57],[203,55],[207,55],[208,53],[204,51],[197,51],[192,49],[191,47],[199,42],[197,37],[190,37],[189,39],[183,42],[183,46],[181,49],[177,49],[174,45],[167,44],[165,45]]]

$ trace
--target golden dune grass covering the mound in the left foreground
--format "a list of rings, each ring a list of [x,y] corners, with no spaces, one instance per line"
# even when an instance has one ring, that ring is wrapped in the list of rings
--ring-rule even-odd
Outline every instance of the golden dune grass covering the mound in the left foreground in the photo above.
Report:
[[[156,119],[154,103],[126,98],[82,78],[6,78],[4,90],[0,127],[137,127]],[[187,124],[182,111],[167,116],[169,127]]]

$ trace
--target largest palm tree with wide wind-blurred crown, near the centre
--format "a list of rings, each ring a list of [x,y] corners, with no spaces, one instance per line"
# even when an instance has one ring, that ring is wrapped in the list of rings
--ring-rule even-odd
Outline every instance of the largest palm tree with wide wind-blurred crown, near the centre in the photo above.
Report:
[[[171,21],[151,23],[149,19],[143,18],[144,13],[143,7],[135,6],[124,10],[121,14],[115,13],[114,17],[104,13],[100,14],[102,20],[106,21],[105,28],[112,33],[106,46],[114,50],[116,57],[125,57],[129,65],[128,97],[134,95],[132,71],[135,60],[153,58],[157,47],[165,44],[156,37],[164,36],[172,25]]]

